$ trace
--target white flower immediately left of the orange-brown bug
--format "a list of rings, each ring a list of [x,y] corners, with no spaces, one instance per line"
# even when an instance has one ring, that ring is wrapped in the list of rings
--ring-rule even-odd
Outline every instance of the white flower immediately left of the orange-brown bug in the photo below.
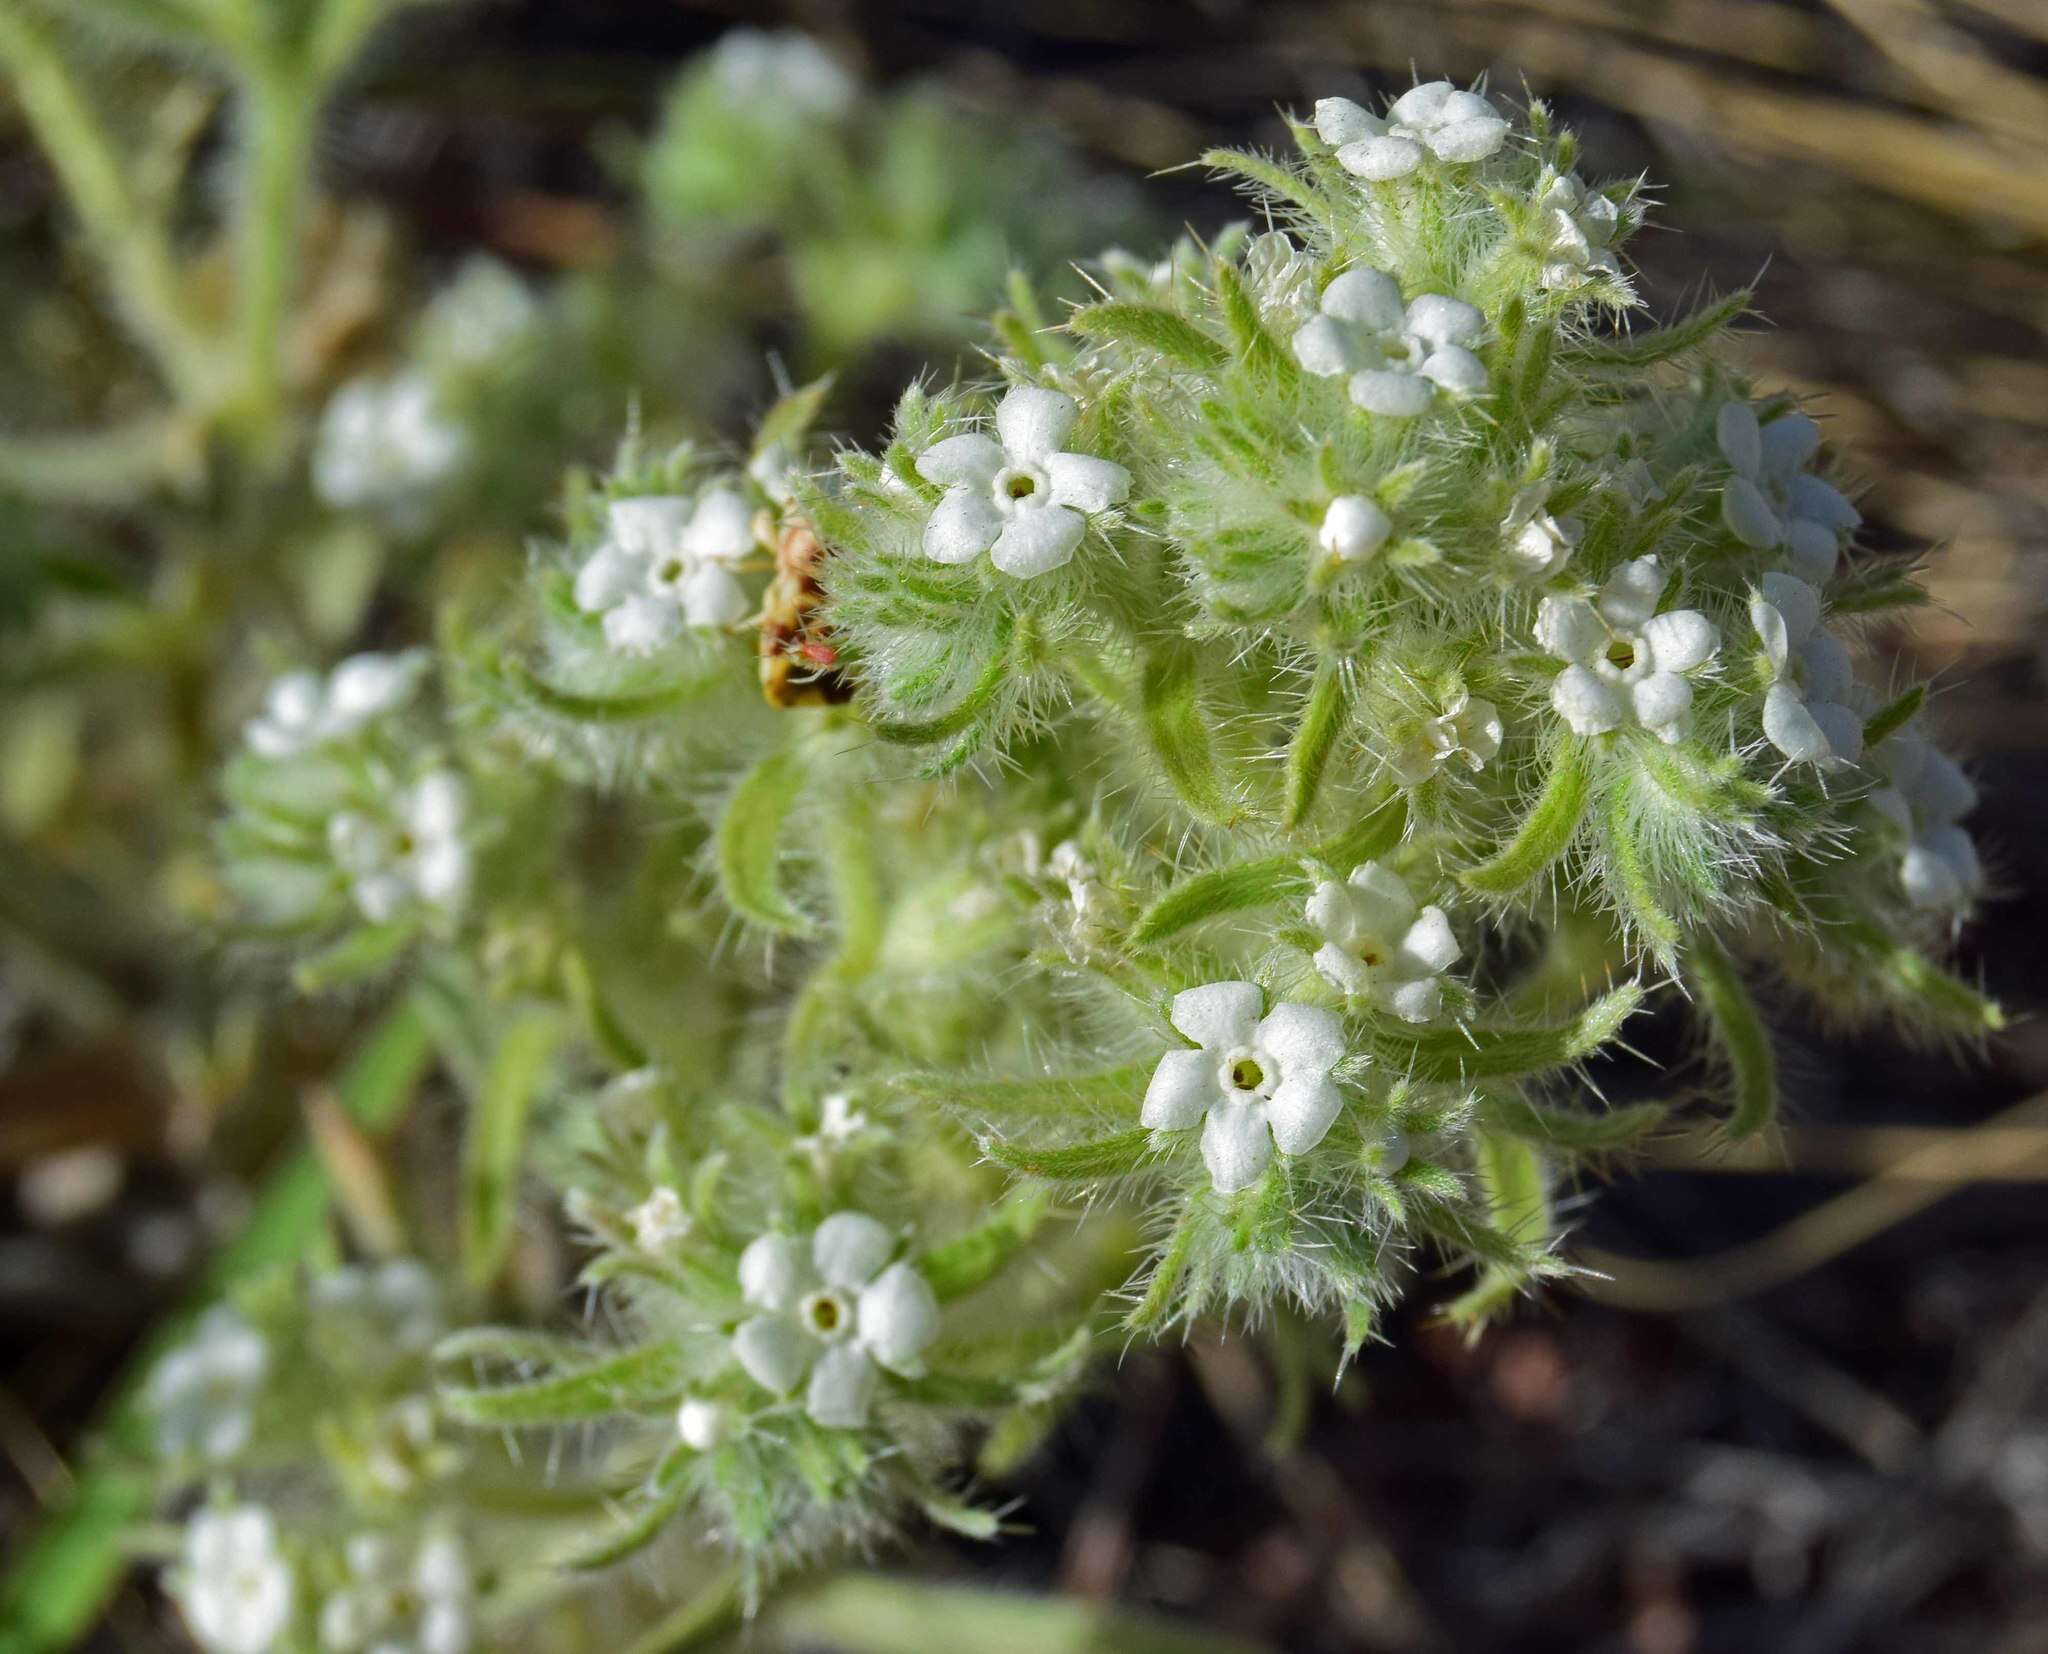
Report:
[[[612,649],[645,655],[686,626],[729,626],[745,614],[748,594],[731,565],[750,551],[754,508],[737,489],[614,499],[604,542],[575,575],[575,606],[604,616]]]

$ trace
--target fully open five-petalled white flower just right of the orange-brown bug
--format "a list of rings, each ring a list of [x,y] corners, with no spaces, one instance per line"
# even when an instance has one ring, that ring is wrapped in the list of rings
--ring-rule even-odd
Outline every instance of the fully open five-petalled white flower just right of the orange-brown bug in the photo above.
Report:
[[[995,407],[995,436],[963,432],[918,454],[918,475],[946,489],[924,528],[924,555],[973,563],[989,553],[1018,579],[1069,563],[1087,518],[1130,493],[1124,467],[1059,450],[1079,411],[1065,391],[1018,385]]]

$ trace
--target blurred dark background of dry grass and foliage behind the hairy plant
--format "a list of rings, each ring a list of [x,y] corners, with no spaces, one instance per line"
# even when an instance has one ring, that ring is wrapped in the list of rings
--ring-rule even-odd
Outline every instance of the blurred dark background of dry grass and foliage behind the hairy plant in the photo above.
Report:
[[[797,149],[752,170],[745,131],[688,141],[717,117],[676,76],[735,25],[803,29],[866,84],[856,166]],[[137,111],[182,121],[203,162],[207,94],[180,106],[174,63],[106,49]],[[2048,983],[2048,4],[418,8],[317,135],[303,375],[375,360],[420,287],[487,254],[553,295],[559,373],[506,418],[555,452],[602,456],[635,397],[735,434],[776,371],[823,366],[842,373],[834,420],[866,436],[922,362],[973,348],[967,317],[1012,262],[1212,233],[1239,203],[1171,168],[1284,141],[1280,106],[1417,74],[1542,96],[1589,176],[1647,174],[1659,209],[1630,252],[1651,309],[1755,282],[1765,321],[1741,366],[1815,399],[1872,545],[1925,553],[1935,606],[1878,649],[1937,678],[1939,735],[1982,784],[1999,899],[1964,962],[2013,1028],[1958,1054],[1782,1026],[1778,1140],[1667,1140],[1640,1177],[1587,1191],[1571,1249],[1606,1279],[1477,1345],[1419,1294],[1335,1394],[1284,1324],[1137,1355],[1018,1474],[1022,1533],[926,1539],[905,1566],[1071,1603],[1034,1621],[1036,1654],[2048,1650],[2048,1030],[2030,1015]],[[225,608],[217,563],[180,561],[209,506],[176,444],[117,463],[139,440],[117,360],[0,94],[8,1539],[66,1500],[129,1357],[238,1232],[348,1030],[346,1009],[287,1011],[203,940],[203,778],[248,710],[248,637],[289,610],[297,641],[414,641],[432,594],[516,569],[553,485],[479,481],[453,530],[246,524],[283,547],[270,579],[293,596]],[[59,428],[106,440],[59,450]],[[123,502],[166,479],[186,522],[143,530]],[[242,616],[233,637],[221,616]],[[1675,1034],[1642,1044],[1698,1060]],[[418,1130],[430,1152],[434,1118]],[[899,1625],[846,1588],[762,1638],[993,1636],[952,1625],[944,1597]],[[90,1646],[168,1648],[176,1629],[137,1582]]]

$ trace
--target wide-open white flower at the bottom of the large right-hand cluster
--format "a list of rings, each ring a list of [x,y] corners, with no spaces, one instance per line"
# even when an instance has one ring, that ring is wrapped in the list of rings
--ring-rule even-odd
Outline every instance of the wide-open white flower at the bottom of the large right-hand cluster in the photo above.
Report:
[[[1343,1019],[1319,1005],[1274,1005],[1255,983],[1208,983],[1174,995],[1169,1021],[1200,1050],[1169,1050],[1145,1087],[1141,1124],[1202,1128],[1217,1193],[1249,1187],[1282,1155],[1307,1155],[1343,1107],[1329,1071],[1343,1060]]]

